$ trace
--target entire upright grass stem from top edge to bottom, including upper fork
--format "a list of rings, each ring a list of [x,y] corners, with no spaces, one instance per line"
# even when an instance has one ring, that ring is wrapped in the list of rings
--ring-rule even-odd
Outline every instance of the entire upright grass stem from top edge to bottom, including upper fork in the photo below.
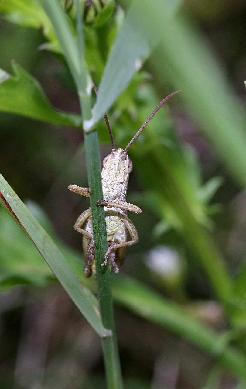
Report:
[[[76,11],[80,13],[81,7],[78,1],[79,0],[77,0],[75,5]],[[77,44],[73,38],[65,15],[63,14],[61,5],[58,4],[58,0],[42,0],[42,2],[58,35],[58,39],[61,47],[63,48],[66,61],[73,75],[83,115],[83,129],[84,131],[88,130],[89,127],[87,124],[91,123],[90,95],[92,84],[84,60],[82,15],[78,14],[76,18],[77,33],[79,34],[79,42]],[[68,47],[70,43],[72,44],[75,58],[73,58],[72,51],[70,50],[70,47]],[[110,282],[108,282],[109,265],[106,268],[101,268],[100,266],[100,263],[103,262],[103,256],[107,250],[108,243],[104,208],[96,206],[97,200],[101,200],[103,198],[97,131],[85,133],[85,152],[89,188],[91,189],[90,203],[98,275],[99,304],[103,326],[105,326],[110,333],[110,336],[102,338],[106,377],[109,389],[122,389],[123,384],[113,317],[112,292]]]

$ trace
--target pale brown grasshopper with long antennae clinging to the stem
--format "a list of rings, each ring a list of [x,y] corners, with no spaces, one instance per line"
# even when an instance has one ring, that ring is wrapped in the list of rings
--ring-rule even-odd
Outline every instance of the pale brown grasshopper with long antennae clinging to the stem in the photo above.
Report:
[[[93,83],[93,88],[96,94],[98,89]],[[104,206],[106,218],[106,231],[108,238],[108,249],[104,256],[104,262],[101,266],[105,266],[109,261],[110,270],[115,273],[119,272],[119,268],[123,264],[123,255],[127,246],[138,242],[138,233],[132,223],[127,217],[127,211],[141,213],[141,209],[134,204],[126,203],[126,191],[128,186],[129,174],[132,171],[133,164],[127,152],[129,147],[139,137],[143,129],[147,126],[149,121],[161,106],[167,102],[171,97],[179,93],[176,91],[166,96],[150,114],[148,119],[140,127],[136,135],[127,145],[126,149],[115,149],[115,142],[113,139],[112,130],[108,122],[108,117],[105,114],[105,121],[110,134],[112,151],[103,160],[103,168],[101,172],[103,201],[98,201],[98,205]],[[89,197],[90,189],[83,188],[77,185],[68,186],[70,191],[78,193],[79,195]],[[86,222],[87,221],[87,222]],[[85,224],[85,228],[82,226]],[[85,277],[93,275],[96,278],[96,262],[94,258],[94,238],[92,230],[91,209],[85,210],[75,222],[73,228],[83,235],[83,251],[85,258]],[[130,235],[131,240],[127,240]]]

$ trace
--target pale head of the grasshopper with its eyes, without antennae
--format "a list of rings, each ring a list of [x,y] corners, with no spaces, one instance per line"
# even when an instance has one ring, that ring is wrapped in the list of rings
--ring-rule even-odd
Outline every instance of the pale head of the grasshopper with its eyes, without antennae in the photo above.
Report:
[[[101,177],[108,181],[124,182],[133,164],[123,149],[112,150],[103,160]]]

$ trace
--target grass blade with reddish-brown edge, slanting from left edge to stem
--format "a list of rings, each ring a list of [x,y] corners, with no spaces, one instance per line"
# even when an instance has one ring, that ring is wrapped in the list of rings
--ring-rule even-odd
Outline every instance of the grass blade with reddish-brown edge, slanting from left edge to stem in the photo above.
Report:
[[[106,336],[107,331],[101,322],[98,300],[73,272],[51,237],[21,202],[2,175],[0,175],[0,203],[16,223],[23,228],[91,326],[99,335]]]

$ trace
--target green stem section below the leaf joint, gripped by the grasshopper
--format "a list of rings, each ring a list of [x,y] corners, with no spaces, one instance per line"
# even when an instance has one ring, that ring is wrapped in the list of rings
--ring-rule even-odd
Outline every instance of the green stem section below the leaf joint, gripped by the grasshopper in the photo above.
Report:
[[[103,257],[108,248],[108,240],[106,236],[104,207],[98,207],[96,205],[98,200],[103,199],[97,131],[85,133],[85,154],[87,161],[89,188],[91,189],[90,203],[98,277],[99,305],[103,326],[107,329],[111,329],[112,331],[112,336],[106,336],[102,338],[106,377],[108,388],[120,389],[123,388],[123,384],[120,371],[119,352],[115,335],[109,263],[107,266],[100,266],[100,264],[104,261]]]

